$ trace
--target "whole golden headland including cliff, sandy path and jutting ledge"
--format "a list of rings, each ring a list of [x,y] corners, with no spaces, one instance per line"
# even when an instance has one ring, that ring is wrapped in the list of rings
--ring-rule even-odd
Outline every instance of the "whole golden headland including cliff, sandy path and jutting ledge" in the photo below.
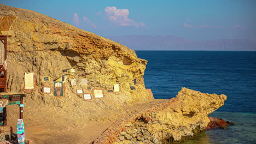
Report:
[[[0,34],[10,35],[8,91],[27,94],[26,136],[36,143],[181,141],[205,130],[226,99],[182,88],[177,98],[154,100],[143,81],[147,61],[135,51],[31,10],[0,4]],[[31,88],[25,73],[33,73]],[[16,110],[8,107],[13,127]]]

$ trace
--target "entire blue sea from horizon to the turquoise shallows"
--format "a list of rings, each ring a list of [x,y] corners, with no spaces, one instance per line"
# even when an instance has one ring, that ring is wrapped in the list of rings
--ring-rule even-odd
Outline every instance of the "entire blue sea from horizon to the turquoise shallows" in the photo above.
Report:
[[[183,144],[256,143],[255,51],[136,51],[148,61],[146,88],[156,99],[176,97],[182,87],[225,94],[224,105],[210,116],[235,123],[211,129]]]

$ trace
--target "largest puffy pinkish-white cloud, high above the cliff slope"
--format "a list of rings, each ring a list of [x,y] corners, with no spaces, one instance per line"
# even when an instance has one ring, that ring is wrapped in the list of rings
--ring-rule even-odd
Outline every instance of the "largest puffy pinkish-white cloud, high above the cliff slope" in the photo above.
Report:
[[[136,22],[130,19],[128,9],[117,9],[116,7],[106,7],[104,10],[107,19],[111,22],[117,23],[119,26],[135,26],[145,27],[143,22]]]

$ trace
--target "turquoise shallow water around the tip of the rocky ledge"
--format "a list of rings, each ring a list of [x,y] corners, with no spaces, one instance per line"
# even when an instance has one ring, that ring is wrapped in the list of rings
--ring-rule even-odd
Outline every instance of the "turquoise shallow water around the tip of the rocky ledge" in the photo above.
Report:
[[[256,114],[240,112],[213,112],[210,116],[221,117],[235,125],[228,129],[207,130],[194,140],[187,140],[182,144],[240,144],[256,143]]]

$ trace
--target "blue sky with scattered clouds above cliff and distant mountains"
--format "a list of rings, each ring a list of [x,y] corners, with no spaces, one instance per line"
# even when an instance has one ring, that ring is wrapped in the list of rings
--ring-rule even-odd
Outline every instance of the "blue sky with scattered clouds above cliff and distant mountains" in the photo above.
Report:
[[[254,0],[0,0],[103,37],[176,35],[189,40],[256,41]]]

